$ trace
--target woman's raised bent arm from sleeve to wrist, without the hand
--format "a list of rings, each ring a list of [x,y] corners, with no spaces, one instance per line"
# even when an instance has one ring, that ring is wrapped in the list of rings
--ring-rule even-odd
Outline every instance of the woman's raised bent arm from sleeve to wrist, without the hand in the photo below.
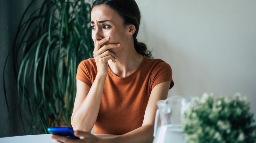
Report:
[[[106,76],[96,75],[90,88],[86,83],[76,81],[76,99],[71,124],[74,130],[91,132],[97,119]]]

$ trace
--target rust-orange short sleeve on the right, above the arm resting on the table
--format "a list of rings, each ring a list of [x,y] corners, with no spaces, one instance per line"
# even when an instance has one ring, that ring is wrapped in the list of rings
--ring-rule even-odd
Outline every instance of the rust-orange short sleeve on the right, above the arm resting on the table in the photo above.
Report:
[[[164,61],[159,62],[154,67],[152,74],[152,89],[159,83],[170,81],[170,88],[171,89],[174,85],[172,80],[172,68],[169,64]]]

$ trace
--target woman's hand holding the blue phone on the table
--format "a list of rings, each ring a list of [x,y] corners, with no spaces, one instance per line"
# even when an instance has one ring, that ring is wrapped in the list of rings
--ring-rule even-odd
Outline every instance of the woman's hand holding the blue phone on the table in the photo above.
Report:
[[[63,136],[52,135],[52,139],[55,140],[56,143],[104,143],[103,138],[96,137],[92,135],[90,132],[83,131],[75,131],[74,135],[80,137],[80,139],[69,139]]]

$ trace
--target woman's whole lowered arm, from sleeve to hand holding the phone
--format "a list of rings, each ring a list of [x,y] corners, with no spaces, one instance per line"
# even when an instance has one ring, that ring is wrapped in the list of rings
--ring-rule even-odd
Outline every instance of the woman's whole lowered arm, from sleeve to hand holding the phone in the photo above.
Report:
[[[83,130],[81,130],[75,131],[75,135],[80,137],[80,140],[68,139],[57,135],[52,135],[52,139],[59,140],[64,143],[152,143],[154,139],[154,121],[157,109],[156,102],[167,98],[170,83],[171,82],[162,82],[152,89],[142,126],[131,132],[117,137],[104,139],[92,135],[90,132],[82,132]]]

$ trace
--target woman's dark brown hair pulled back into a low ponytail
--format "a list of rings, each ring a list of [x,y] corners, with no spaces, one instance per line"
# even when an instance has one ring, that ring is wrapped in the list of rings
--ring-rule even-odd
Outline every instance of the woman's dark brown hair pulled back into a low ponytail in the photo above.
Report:
[[[113,9],[114,11],[116,11],[123,18],[124,25],[132,24],[135,26],[136,31],[132,35],[135,50],[139,54],[145,55],[148,58],[151,58],[152,54],[147,49],[147,45],[142,42],[138,42],[136,39],[139,32],[139,28],[140,28],[140,17],[141,17],[140,9],[137,3],[134,0],[96,0],[92,4],[92,8],[96,5],[101,5],[101,4],[104,4],[110,7],[111,9]]]

